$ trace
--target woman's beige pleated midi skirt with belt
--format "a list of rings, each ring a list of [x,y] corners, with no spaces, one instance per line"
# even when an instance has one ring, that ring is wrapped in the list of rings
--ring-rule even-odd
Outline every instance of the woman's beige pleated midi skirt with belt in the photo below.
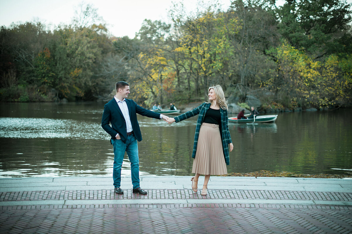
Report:
[[[227,174],[219,125],[202,123],[192,173],[202,175]]]

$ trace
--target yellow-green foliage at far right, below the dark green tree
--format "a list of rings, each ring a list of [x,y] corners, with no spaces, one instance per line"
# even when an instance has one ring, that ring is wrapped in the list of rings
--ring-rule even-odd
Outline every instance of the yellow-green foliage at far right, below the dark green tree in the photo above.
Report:
[[[326,107],[339,105],[340,100],[347,99],[352,79],[345,74],[351,73],[341,73],[343,70],[337,55],[330,55],[325,61],[316,61],[287,42],[276,49],[276,55],[286,86],[284,90],[291,90],[305,105]],[[352,59],[350,61],[352,63]]]

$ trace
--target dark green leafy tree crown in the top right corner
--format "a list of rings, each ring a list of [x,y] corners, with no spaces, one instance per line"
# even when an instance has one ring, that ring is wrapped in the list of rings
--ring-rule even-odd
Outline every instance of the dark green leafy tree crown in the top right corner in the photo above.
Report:
[[[342,0],[290,0],[277,9],[279,31],[290,45],[315,59],[345,52],[339,38],[352,20],[350,8]]]

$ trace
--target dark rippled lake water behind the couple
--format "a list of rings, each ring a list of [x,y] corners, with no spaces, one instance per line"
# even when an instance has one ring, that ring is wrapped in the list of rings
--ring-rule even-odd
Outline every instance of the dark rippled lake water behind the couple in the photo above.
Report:
[[[112,176],[110,136],[100,126],[103,106],[0,103],[0,177]],[[351,109],[291,112],[279,113],[275,123],[229,123],[234,150],[227,170],[351,172],[351,114]],[[167,124],[138,115],[140,174],[192,175],[196,120]],[[130,173],[125,155],[122,174]]]

